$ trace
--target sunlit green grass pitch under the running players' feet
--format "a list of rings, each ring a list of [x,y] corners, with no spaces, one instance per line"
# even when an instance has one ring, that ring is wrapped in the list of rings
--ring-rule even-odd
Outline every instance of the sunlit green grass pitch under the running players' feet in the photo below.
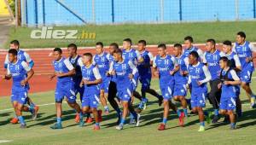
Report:
[[[254,75],[255,76],[255,75]],[[253,79],[255,80],[255,79]],[[255,90],[255,81],[252,88]],[[152,82],[152,88],[158,90],[158,81]],[[230,131],[230,125],[207,125],[207,131],[197,132],[198,117],[191,116],[186,120],[186,127],[177,126],[177,115],[173,112],[167,123],[168,130],[157,131],[161,121],[162,107],[158,107],[156,99],[148,96],[150,105],[142,113],[140,127],[125,125],[125,130],[115,130],[115,113],[104,116],[101,131],[92,131],[93,125],[80,128],[74,123],[74,112],[67,103],[63,104],[63,126],[60,131],[53,131],[49,126],[55,123],[55,106],[41,106],[38,119],[32,121],[29,113],[24,113],[28,128],[21,130],[20,125],[10,125],[9,119],[13,111],[0,111],[0,140],[12,140],[6,144],[255,144],[256,110],[249,108],[244,91],[243,117],[237,123],[238,129]],[[37,93],[30,95],[34,102],[46,104],[54,102],[54,92]],[[138,102],[138,101],[137,101]],[[207,104],[207,109],[210,105]],[[9,97],[0,98],[0,110],[11,108]],[[4,144],[4,143],[3,143]]]

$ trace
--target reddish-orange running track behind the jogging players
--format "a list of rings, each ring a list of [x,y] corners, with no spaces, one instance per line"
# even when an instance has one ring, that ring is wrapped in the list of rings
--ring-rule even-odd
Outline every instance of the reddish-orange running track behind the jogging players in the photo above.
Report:
[[[203,45],[199,46],[201,49],[204,49]],[[219,46],[218,46],[219,47]],[[67,49],[63,49],[63,55],[67,56]],[[106,49],[108,51],[108,49]],[[149,47],[148,50],[157,55],[156,47]],[[168,48],[170,54],[172,54],[172,47]],[[27,53],[32,57],[32,60],[35,62],[34,71],[35,75],[30,80],[31,90],[30,93],[35,92],[44,92],[55,89],[55,80],[49,81],[49,74],[53,72],[52,61],[53,57],[49,56],[51,50],[41,49],[41,50],[28,50]],[[95,54],[95,49],[79,49],[79,55],[82,55],[85,52],[90,52]],[[1,51],[0,53],[0,74],[5,74],[5,69],[3,68],[3,61],[6,55],[6,51]],[[254,61],[256,66],[256,61]],[[11,84],[12,81],[2,80],[0,82],[0,96],[9,96],[11,93]]]

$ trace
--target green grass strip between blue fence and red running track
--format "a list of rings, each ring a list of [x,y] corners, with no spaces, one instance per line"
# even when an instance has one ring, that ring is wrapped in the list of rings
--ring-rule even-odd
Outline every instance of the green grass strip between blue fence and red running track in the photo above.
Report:
[[[103,26],[55,26],[54,29],[78,29],[79,32],[95,32],[95,39],[32,39],[30,38],[32,27],[15,27],[9,32],[9,41],[20,40],[21,48],[47,48],[67,47],[67,44],[76,43],[79,46],[94,46],[97,41],[108,45],[113,42],[122,43],[124,38],[131,38],[134,43],[139,39],[147,40],[148,44],[174,44],[183,43],[185,36],[191,35],[195,43],[205,43],[207,38],[215,38],[218,43],[226,39],[235,40],[236,32],[247,33],[247,40],[256,41],[256,21],[232,21],[232,22],[198,22],[198,23],[176,23],[176,24],[125,24],[125,25],[103,25]],[[8,41],[8,42],[9,42]],[[8,47],[5,44],[5,48]]]

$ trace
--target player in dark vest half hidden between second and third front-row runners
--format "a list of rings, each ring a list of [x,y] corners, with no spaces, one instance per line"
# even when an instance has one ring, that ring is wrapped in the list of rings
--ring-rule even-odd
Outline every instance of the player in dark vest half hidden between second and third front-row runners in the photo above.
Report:
[[[80,101],[82,102],[82,97],[84,95],[84,86],[80,87],[80,83],[82,81],[82,72],[81,72],[81,67],[83,66],[82,57],[77,53],[76,44],[69,44],[67,46],[67,53],[68,53],[67,60],[70,61],[70,63],[75,68],[75,74],[72,76],[73,84],[74,84],[74,92],[76,96],[79,94]],[[80,120],[79,113],[77,113],[75,121],[79,123],[79,120]]]

